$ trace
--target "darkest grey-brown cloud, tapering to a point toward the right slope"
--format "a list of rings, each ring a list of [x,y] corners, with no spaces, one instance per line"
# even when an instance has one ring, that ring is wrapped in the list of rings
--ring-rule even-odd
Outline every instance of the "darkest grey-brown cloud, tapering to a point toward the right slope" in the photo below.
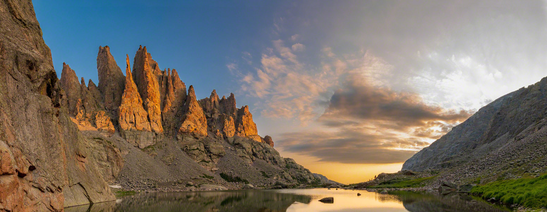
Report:
[[[381,120],[393,127],[425,126],[430,121],[459,123],[467,119],[467,111],[445,110],[428,105],[415,93],[394,92],[386,87],[370,86],[365,78],[350,75],[348,86],[338,89],[330,105],[319,118],[348,118],[359,121]]]

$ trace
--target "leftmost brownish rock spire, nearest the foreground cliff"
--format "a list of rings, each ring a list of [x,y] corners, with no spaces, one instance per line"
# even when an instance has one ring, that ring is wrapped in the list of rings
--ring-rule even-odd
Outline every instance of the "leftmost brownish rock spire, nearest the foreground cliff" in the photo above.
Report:
[[[78,76],[76,72],[63,63],[63,70],[61,72],[61,80],[59,85],[66,93],[66,105],[69,114],[75,115],[77,101],[80,98],[80,82],[78,82]]]

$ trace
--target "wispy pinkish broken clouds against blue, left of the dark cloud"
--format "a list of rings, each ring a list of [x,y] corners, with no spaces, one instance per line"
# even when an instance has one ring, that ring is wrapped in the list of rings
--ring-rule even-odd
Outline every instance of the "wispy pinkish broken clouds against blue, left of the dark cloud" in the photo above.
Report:
[[[304,45],[287,47],[283,40],[273,40],[272,48],[261,54],[259,66],[252,66],[253,71],[240,75],[241,89],[258,98],[255,105],[261,115],[306,124],[323,112],[318,105],[328,100],[337,76],[334,70],[315,72],[309,64],[302,63],[293,53],[293,49],[300,48]],[[336,63],[332,67],[344,68],[344,64]]]

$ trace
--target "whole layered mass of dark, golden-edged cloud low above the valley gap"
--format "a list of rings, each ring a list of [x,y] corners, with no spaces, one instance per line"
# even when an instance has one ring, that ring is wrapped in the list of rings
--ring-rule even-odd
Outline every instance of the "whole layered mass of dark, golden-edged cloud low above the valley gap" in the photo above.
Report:
[[[317,119],[324,131],[282,134],[278,146],[325,162],[403,162],[473,113],[426,104],[415,93],[372,86],[362,70],[371,69],[348,72],[346,86],[331,96]]]

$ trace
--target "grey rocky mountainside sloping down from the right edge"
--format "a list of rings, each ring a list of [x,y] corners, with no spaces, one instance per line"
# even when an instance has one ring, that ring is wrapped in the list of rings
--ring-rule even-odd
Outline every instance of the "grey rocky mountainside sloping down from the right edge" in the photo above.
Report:
[[[406,160],[403,169],[443,171],[474,183],[547,172],[547,78],[482,107]]]

